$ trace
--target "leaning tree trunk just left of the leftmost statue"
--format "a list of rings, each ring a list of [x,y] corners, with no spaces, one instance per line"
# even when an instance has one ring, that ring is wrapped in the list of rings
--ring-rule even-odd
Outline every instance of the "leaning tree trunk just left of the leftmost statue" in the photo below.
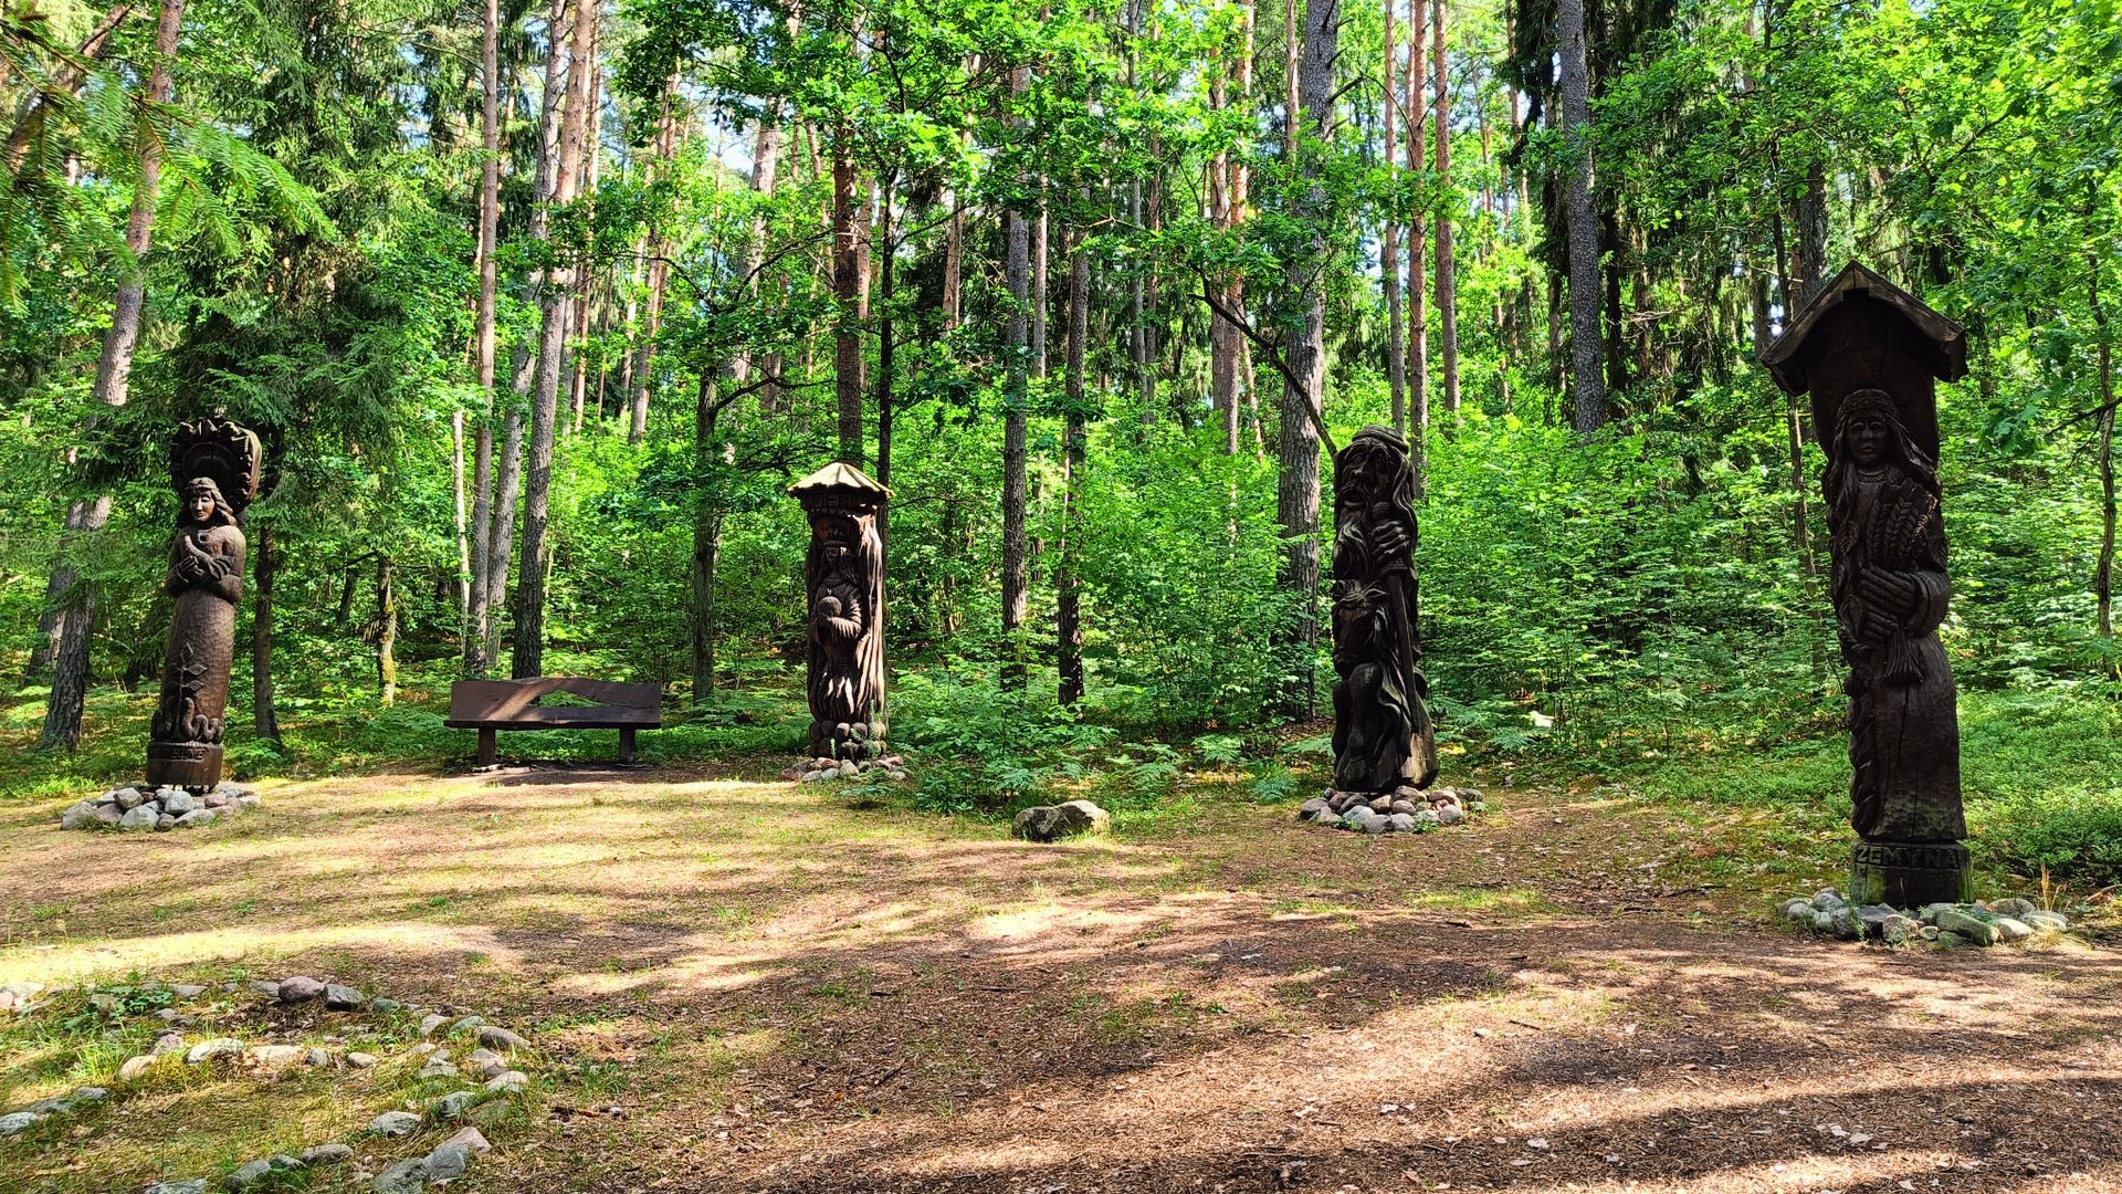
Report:
[[[168,106],[176,66],[176,34],[185,21],[185,0],[161,0],[155,21],[155,62],[149,68],[149,106]],[[161,183],[161,136],[144,115],[134,119],[134,147],[140,155],[140,178],[134,183],[132,212],[125,219],[125,274],[112,302],[110,329],[95,361],[93,399],[104,408],[125,406],[132,387],[134,348],[140,344],[140,323],[146,308],[146,251],[153,242],[155,193]],[[59,544],[59,561],[79,557],[81,540],[95,535],[110,521],[110,495],[76,501],[68,510],[70,535]],[[89,635],[95,629],[95,593],[70,582],[74,603],[59,625],[59,648],[51,665],[51,699],[45,703],[45,733],[38,746],[74,750],[81,746],[81,712],[89,699]]]

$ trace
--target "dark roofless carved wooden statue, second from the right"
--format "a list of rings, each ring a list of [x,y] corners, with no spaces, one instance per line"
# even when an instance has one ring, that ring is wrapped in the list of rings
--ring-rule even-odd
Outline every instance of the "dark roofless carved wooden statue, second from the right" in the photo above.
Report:
[[[1364,427],[1333,461],[1335,788],[1437,780],[1415,627],[1415,474],[1407,440]]]

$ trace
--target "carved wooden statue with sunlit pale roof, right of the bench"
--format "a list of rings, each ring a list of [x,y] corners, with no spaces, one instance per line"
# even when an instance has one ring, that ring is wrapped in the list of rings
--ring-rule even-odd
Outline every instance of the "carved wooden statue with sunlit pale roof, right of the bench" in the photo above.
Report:
[[[891,495],[845,463],[789,493],[811,518],[811,754],[862,767],[885,754],[885,542],[876,514]]]

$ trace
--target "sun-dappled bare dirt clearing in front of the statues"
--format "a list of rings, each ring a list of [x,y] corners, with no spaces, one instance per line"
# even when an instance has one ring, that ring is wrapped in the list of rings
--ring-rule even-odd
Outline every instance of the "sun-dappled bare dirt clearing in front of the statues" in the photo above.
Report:
[[[2122,954],[1804,939],[1666,807],[1029,846],[760,775],[8,805],[0,982],[240,960],[522,1026],[556,1077],[460,1190],[2122,1190]]]

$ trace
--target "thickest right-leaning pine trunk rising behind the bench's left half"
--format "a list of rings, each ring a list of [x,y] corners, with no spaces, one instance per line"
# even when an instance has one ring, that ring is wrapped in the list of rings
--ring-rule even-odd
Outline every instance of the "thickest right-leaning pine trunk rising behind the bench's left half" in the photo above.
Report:
[[[567,57],[567,106],[560,115],[560,147],[554,164],[554,206],[575,200],[588,132],[592,47],[596,45],[596,0],[577,0],[573,49]],[[554,42],[547,70],[558,70]],[[575,266],[554,270],[543,291],[537,393],[530,406],[530,459],[524,467],[524,559],[516,578],[516,650],[509,673],[539,676],[545,667],[545,508],[552,493],[552,444],[560,421],[560,370],[567,348],[567,306],[575,289]]]

